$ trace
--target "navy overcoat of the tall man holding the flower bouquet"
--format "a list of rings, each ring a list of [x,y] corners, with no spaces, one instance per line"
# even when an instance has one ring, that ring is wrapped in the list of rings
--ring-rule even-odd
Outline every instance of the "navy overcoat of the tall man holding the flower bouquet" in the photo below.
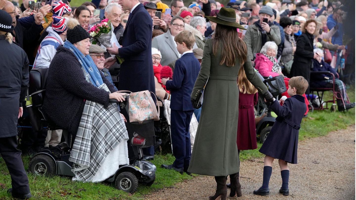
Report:
[[[156,92],[151,54],[152,19],[142,4],[129,16],[119,57],[121,64],[119,90]]]

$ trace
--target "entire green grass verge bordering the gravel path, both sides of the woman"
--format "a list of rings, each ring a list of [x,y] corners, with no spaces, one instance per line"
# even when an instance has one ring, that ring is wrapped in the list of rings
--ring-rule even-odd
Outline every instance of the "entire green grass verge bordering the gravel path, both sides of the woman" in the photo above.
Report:
[[[355,86],[347,89],[350,101],[355,102]],[[325,99],[330,99],[331,93],[326,92]],[[355,109],[347,112],[330,112],[330,110],[309,112],[308,117],[304,118],[299,131],[299,140],[307,138],[325,136],[330,131],[344,129],[355,123]],[[258,149],[262,146],[257,144]],[[241,151],[240,159],[254,159],[263,157],[258,149]],[[23,156],[25,169],[28,168],[28,162],[31,157]],[[81,183],[72,181],[70,177],[55,176],[51,178],[36,177],[28,174],[31,193],[33,199],[127,199],[141,200],[143,195],[151,193],[160,188],[167,188],[176,183],[187,179],[192,179],[187,174],[180,175],[173,170],[160,168],[161,164],[171,164],[174,161],[172,154],[158,154],[153,160],[156,165],[156,180],[150,187],[139,185],[135,194],[129,195],[117,190],[111,183]],[[11,179],[5,162],[0,158],[0,200],[12,199],[11,195],[6,193],[7,188],[11,187]]]

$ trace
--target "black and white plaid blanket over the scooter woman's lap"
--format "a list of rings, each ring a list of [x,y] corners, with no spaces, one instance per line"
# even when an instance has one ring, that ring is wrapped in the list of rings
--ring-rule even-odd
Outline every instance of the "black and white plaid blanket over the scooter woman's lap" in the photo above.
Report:
[[[98,88],[109,91],[105,84]],[[105,109],[102,104],[87,100],[69,158],[73,162],[74,179],[91,181],[108,154],[121,141],[126,142],[128,139],[117,104],[109,104],[108,109]]]

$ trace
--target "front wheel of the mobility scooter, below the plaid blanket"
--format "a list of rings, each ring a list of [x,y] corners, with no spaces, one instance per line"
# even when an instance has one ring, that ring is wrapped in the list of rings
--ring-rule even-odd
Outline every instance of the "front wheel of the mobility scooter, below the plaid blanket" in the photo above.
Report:
[[[116,177],[115,186],[117,189],[127,193],[135,193],[138,187],[138,180],[131,172],[122,172]]]

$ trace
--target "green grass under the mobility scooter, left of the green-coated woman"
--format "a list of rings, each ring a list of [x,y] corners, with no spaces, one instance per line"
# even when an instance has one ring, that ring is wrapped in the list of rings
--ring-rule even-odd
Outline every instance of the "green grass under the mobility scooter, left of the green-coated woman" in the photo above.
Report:
[[[23,156],[25,169],[28,168],[30,156]],[[129,195],[123,191],[117,190],[114,184],[104,183],[81,183],[72,181],[70,177],[38,177],[28,173],[28,181],[33,199],[128,199],[141,200],[142,196],[159,188],[166,188],[185,179],[192,179],[187,174],[180,175],[173,170],[160,168],[161,164],[172,164],[174,157],[172,154],[156,155],[153,164],[156,165],[156,180],[150,187],[139,185],[135,194]],[[7,188],[11,188],[11,179],[5,162],[0,158],[0,199],[12,199],[10,194],[6,193]]]

